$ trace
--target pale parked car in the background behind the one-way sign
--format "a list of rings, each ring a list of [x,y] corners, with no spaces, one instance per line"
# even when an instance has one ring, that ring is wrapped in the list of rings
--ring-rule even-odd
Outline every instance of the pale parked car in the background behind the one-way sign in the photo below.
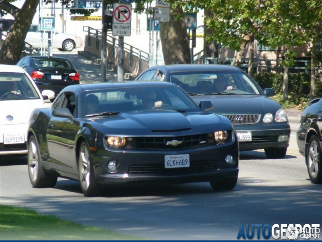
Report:
[[[31,25],[24,41],[36,48],[41,48],[42,45],[47,47],[48,32],[39,31],[38,25]],[[83,40],[80,36],[64,34],[56,30],[53,31],[52,48],[57,48],[64,51],[72,51],[74,48],[81,48],[82,46]]]

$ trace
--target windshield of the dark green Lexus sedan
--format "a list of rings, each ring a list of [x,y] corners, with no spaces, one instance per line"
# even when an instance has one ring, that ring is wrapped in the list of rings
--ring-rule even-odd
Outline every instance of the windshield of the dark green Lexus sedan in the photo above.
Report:
[[[170,82],[193,94],[260,95],[260,91],[242,72],[185,72],[172,73]]]

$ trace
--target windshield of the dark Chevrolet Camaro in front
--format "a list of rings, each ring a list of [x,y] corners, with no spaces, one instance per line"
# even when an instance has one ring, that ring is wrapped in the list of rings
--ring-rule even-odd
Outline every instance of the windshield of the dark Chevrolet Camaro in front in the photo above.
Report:
[[[142,110],[201,111],[194,101],[176,86],[140,86],[84,91],[81,106],[82,116]]]

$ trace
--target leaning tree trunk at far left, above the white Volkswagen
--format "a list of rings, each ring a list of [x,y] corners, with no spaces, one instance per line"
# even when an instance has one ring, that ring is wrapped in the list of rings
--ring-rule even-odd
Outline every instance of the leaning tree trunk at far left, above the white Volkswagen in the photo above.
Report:
[[[21,10],[14,16],[11,31],[0,50],[0,64],[15,65],[20,60],[24,39],[37,11],[38,3],[38,0],[26,0]]]

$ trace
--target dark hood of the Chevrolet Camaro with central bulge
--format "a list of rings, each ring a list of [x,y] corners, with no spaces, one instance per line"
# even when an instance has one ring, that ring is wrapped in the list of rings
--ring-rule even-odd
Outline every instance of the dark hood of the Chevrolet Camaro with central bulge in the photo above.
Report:
[[[200,132],[201,128],[203,132],[232,129],[230,121],[223,116],[195,112],[179,113],[173,110],[127,112],[119,113],[117,116],[94,117],[92,120],[99,126],[97,128],[101,132],[115,132],[120,135],[178,132],[190,128],[196,133]],[[206,131],[207,129],[209,131]]]

